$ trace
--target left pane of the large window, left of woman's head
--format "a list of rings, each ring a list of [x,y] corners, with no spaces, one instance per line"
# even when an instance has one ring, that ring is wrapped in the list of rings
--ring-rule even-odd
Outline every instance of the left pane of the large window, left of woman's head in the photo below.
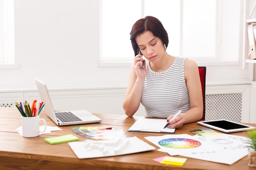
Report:
[[[134,56],[130,31],[142,16],[141,7],[140,0],[102,0],[103,60],[127,61]]]

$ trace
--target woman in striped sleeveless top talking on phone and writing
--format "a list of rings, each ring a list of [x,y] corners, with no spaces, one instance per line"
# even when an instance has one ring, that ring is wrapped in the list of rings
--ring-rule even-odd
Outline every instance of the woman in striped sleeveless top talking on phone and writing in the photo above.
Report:
[[[155,17],[135,22],[130,40],[135,58],[123,102],[126,115],[132,117],[141,103],[146,117],[167,118],[167,128],[198,121],[203,112],[198,65],[166,52],[168,34]],[[171,120],[179,110],[182,113]]]

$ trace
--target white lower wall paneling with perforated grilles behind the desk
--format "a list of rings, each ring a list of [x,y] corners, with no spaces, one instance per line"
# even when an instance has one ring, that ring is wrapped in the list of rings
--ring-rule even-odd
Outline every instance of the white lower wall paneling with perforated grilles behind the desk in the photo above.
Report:
[[[49,89],[54,110],[85,109],[91,113],[125,115],[122,106],[126,87]],[[40,99],[36,90],[0,93],[0,106],[15,107],[15,100]],[[256,123],[256,84],[206,86],[205,119],[229,119]],[[251,103],[250,103],[251,101]],[[141,105],[135,116],[144,116]]]

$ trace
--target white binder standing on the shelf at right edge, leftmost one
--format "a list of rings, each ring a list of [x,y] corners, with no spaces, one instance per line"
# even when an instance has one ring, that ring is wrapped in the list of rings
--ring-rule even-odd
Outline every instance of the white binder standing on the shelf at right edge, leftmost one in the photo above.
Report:
[[[249,40],[249,54],[250,58],[252,60],[256,59],[256,42],[255,42],[255,34],[253,28],[255,27],[255,24],[249,24],[247,26],[248,31],[248,40]]]

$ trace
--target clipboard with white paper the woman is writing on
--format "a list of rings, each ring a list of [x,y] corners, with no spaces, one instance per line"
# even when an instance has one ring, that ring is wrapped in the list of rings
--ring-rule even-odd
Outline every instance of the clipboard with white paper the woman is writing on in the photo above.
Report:
[[[128,129],[128,132],[174,133],[175,128],[164,128],[166,119],[139,118]]]

